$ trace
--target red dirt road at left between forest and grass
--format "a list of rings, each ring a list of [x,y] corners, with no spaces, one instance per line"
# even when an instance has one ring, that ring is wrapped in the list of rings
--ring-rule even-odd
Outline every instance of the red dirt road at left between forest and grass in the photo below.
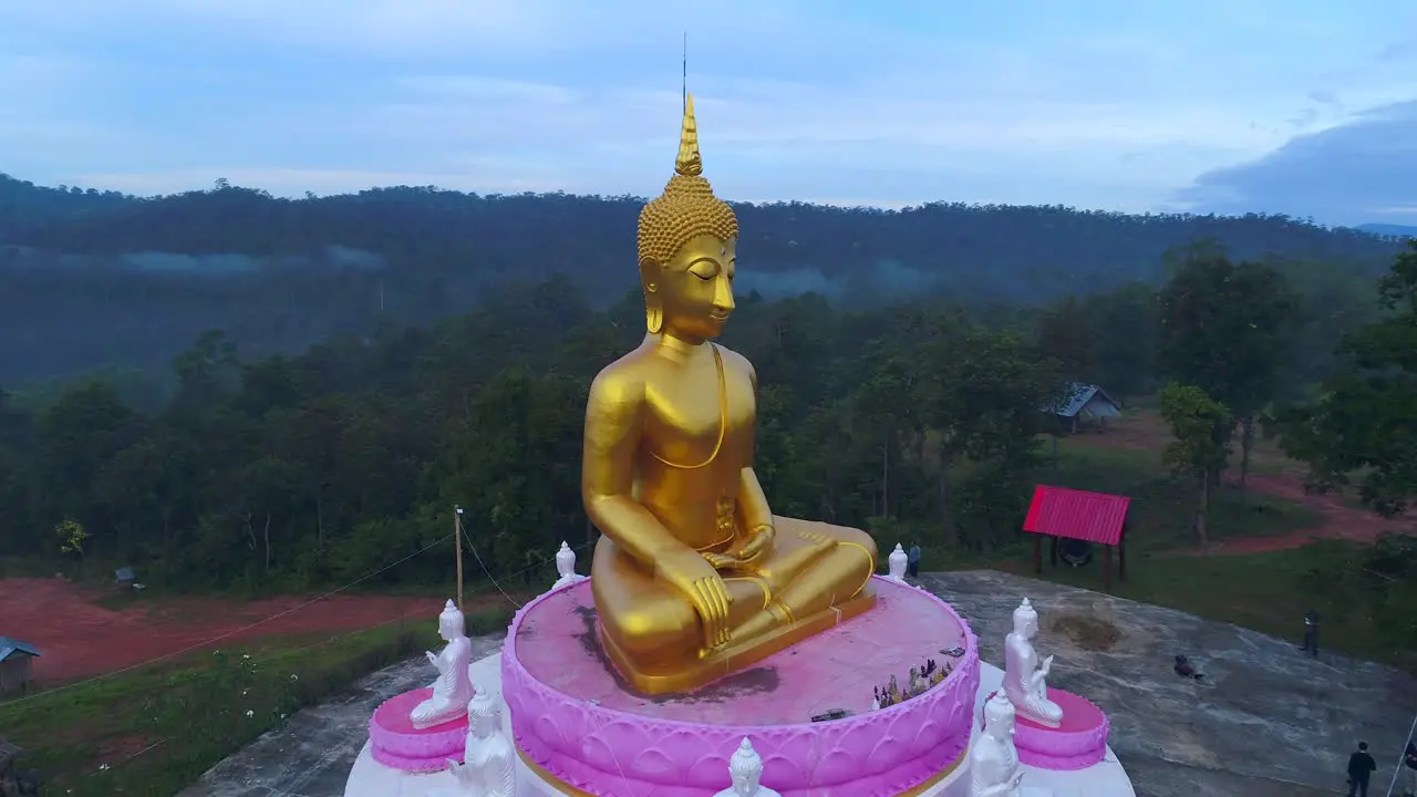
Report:
[[[98,604],[102,597],[64,579],[0,580],[0,635],[38,648],[34,678],[52,685],[275,634],[334,635],[417,617],[428,618],[432,634],[442,607],[436,598],[339,594],[248,603],[136,597],[108,608]],[[495,603],[480,598],[468,608]]]

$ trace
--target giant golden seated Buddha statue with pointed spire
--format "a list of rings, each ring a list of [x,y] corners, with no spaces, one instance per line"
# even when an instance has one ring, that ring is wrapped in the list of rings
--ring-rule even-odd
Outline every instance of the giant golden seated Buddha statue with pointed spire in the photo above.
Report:
[[[876,603],[874,540],[772,515],[752,471],[757,374],[713,343],[734,308],[738,220],[701,172],[686,96],[674,176],[639,216],[648,335],[585,408],[601,641],[646,693],[704,685]]]

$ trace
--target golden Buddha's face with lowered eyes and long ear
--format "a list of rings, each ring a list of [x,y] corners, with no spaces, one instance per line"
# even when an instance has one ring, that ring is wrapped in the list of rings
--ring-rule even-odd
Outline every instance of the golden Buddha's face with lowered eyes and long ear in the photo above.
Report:
[[[645,292],[663,312],[663,332],[699,340],[723,333],[734,308],[737,248],[731,238],[696,235],[669,262],[640,264]]]

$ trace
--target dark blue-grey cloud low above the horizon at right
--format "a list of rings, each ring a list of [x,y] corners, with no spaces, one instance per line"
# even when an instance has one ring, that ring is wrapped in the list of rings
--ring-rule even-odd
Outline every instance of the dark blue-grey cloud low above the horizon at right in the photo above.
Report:
[[[1417,221],[1417,101],[1295,138],[1264,157],[1207,172],[1180,193],[1203,211],[1265,208],[1332,223]]]

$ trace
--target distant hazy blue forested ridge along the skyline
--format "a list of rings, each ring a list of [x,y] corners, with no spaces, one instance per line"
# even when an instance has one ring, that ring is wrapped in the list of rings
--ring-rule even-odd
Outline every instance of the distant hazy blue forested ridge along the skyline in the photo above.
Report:
[[[466,312],[486,286],[565,274],[592,303],[635,285],[643,200],[434,187],[288,200],[218,182],[136,199],[0,176],[0,384],[166,369],[207,329],[247,355]],[[1397,244],[1282,217],[931,204],[740,206],[741,286],[840,301],[1040,302],[1161,275],[1172,247],[1380,271]]]

